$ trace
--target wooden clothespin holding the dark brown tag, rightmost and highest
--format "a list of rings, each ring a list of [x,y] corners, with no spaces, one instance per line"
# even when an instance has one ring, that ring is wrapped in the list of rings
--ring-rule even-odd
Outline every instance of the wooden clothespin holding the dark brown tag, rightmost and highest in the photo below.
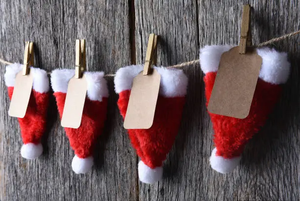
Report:
[[[243,7],[243,18],[242,18],[242,28],[241,28],[241,39],[240,39],[240,46],[239,46],[239,53],[246,54],[247,46],[252,45],[251,41],[251,31],[250,31],[250,14],[251,14],[251,7],[249,4],[244,5]]]

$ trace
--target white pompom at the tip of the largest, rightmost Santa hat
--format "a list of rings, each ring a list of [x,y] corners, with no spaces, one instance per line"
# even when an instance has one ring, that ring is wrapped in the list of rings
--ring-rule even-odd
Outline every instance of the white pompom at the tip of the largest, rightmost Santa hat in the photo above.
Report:
[[[222,156],[216,156],[217,148],[214,148],[210,156],[210,165],[212,169],[220,173],[229,173],[239,165],[241,161],[241,156],[234,158],[223,158]]]

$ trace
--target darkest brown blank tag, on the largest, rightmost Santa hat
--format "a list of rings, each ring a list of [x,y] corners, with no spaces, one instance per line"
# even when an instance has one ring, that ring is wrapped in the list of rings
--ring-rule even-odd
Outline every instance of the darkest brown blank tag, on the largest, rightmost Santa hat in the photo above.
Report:
[[[223,53],[208,111],[213,114],[246,118],[249,115],[262,58],[255,49],[239,54],[239,47]]]

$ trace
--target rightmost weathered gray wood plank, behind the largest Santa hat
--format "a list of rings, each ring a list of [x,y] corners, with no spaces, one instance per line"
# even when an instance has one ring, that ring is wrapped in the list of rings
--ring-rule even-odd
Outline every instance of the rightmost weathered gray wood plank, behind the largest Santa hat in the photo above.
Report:
[[[251,29],[253,44],[300,29],[299,2],[244,1],[253,6]],[[200,46],[205,44],[237,44],[239,41],[243,3],[236,1],[208,2],[199,0]],[[283,9],[284,7],[284,9]],[[214,10],[215,12],[211,12]],[[205,26],[211,25],[211,26]],[[211,33],[211,34],[207,34]],[[202,37],[201,37],[202,35]],[[298,42],[297,42],[298,41]],[[246,147],[241,165],[231,174],[222,175],[209,167],[212,128],[205,127],[202,188],[197,191],[203,200],[298,200],[299,127],[295,119],[299,111],[299,36],[275,44],[290,53],[291,79],[284,86],[282,100],[275,107],[267,125]],[[222,190],[220,190],[222,189]],[[217,193],[218,192],[218,193]]]

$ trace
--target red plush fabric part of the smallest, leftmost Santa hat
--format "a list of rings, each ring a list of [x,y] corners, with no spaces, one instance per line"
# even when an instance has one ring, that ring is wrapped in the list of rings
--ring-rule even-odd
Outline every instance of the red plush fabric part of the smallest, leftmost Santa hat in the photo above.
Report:
[[[14,87],[9,86],[7,90],[9,99],[11,99]],[[40,93],[32,89],[25,116],[18,118],[24,144],[41,143],[41,138],[46,129],[49,94],[49,92]]]

